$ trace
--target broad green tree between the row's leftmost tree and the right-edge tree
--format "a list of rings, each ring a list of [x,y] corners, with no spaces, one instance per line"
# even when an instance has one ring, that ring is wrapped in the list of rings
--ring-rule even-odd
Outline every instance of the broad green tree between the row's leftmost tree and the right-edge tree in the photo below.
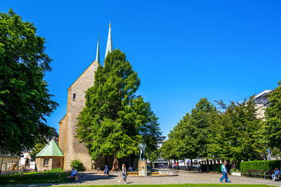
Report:
[[[256,118],[254,98],[244,102],[218,102],[224,112],[211,125],[208,150],[211,158],[241,162],[262,159],[266,148],[260,141],[261,119]]]

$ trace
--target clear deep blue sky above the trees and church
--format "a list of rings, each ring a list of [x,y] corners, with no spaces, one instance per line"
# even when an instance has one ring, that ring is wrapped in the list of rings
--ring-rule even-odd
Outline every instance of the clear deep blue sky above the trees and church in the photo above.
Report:
[[[109,21],[113,48],[138,72],[138,93],[164,135],[200,97],[240,101],[281,79],[281,1],[1,1],[0,11],[8,8],[46,38],[46,80],[60,104],[47,119],[57,130],[98,34],[104,58]]]

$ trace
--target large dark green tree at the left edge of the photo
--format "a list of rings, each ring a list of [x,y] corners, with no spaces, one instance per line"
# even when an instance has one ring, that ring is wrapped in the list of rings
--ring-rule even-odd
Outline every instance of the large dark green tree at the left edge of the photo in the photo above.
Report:
[[[44,53],[45,39],[36,32],[12,10],[0,13],[1,153],[33,148],[49,132],[45,116],[57,106],[44,80],[52,60]]]

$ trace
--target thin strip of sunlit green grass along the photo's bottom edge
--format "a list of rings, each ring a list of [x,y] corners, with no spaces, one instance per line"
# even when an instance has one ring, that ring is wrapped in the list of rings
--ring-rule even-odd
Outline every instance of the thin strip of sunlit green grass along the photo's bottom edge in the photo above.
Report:
[[[121,185],[100,185],[100,187],[115,187]],[[266,187],[268,185],[261,184],[233,184],[233,183],[185,183],[185,184],[161,184],[161,185],[130,185],[133,187]],[[73,187],[73,186],[63,186],[63,187]],[[79,186],[80,187],[80,186]],[[81,186],[82,187],[82,186]],[[84,187],[98,187],[98,186],[84,186]]]

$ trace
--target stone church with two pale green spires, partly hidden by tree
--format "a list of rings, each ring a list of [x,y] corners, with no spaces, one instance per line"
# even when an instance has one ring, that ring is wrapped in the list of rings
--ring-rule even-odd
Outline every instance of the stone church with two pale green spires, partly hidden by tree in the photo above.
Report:
[[[111,25],[109,25],[109,33],[107,38],[107,46],[105,51],[105,57],[107,53],[112,52],[112,39],[111,39]],[[75,159],[81,160],[83,162],[86,169],[95,169],[97,167],[103,168],[105,165],[112,167],[113,158],[106,157],[100,158],[100,160],[93,161],[89,155],[87,148],[84,144],[79,143],[79,139],[74,137],[77,128],[77,117],[79,113],[85,106],[85,95],[86,90],[91,88],[94,83],[95,71],[98,66],[100,66],[100,47],[99,40],[97,46],[96,60],[94,60],[89,67],[77,78],[76,81],[67,89],[67,113],[60,120],[60,131],[59,131],[59,139],[58,146],[63,151],[63,169],[69,170],[70,162]],[[131,162],[131,160],[133,162]],[[121,160],[126,165],[136,165],[136,160],[128,158],[122,158]],[[130,163],[130,164],[129,164]]]

